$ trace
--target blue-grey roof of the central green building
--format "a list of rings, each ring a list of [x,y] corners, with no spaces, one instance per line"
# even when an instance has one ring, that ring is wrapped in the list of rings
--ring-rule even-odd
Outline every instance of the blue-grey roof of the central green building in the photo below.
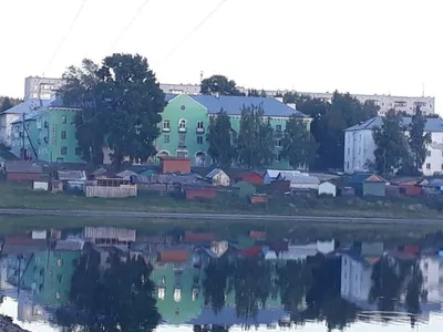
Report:
[[[171,101],[177,94],[166,94],[166,101]],[[228,115],[241,115],[243,106],[261,105],[265,116],[289,117],[296,115],[298,117],[308,117],[306,114],[277,101],[272,97],[253,97],[253,96],[233,96],[233,95],[187,95],[192,100],[203,105],[209,114],[219,113],[223,108]]]

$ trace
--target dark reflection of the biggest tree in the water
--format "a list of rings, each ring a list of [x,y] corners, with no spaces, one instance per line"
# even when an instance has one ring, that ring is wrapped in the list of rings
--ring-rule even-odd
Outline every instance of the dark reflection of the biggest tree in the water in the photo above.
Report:
[[[80,324],[83,331],[153,331],[159,314],[150,280],[151,266],[142,258],[111,255],[110,268],[101,276],[95,251],[82,257],[72,278],[71,299],[75,313],[59,311],[58,323]]]

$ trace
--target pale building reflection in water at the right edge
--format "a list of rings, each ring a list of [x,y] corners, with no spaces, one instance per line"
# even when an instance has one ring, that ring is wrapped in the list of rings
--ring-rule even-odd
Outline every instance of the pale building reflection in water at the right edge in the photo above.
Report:
[[[423,288],[426,290],[427,301],[443,303],[443,257],[422,257],[420,269],[423,273]]]

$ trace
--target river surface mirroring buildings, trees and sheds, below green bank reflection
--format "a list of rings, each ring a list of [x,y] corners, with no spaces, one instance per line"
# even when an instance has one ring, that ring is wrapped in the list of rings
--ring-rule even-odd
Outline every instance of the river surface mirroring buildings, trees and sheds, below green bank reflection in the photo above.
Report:
[[[443,251],[432,243],[300,245],[264,231],[223,239],[92,227],[23,234],[2,241],[1,301],[18,302],[21,322],[66,332],[418,326],[442,311]]]

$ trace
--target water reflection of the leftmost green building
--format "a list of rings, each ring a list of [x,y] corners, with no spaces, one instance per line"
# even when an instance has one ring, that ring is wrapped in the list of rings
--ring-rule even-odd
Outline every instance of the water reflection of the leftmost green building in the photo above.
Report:
[[[23,288],[30,289],[33,300],[43,305],[69,302],[71,279],[80,251],[48,250],[35,252],[23,276]]]

